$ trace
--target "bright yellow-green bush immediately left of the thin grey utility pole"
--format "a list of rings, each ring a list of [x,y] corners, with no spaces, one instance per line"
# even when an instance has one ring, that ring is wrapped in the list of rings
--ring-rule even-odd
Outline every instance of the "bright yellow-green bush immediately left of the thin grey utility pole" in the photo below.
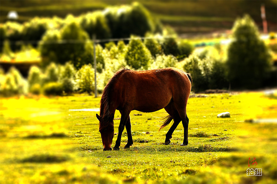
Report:
[[[94,91],[94,69],[91,64],[83,65],[76,73],[76,82],[82,92]]]

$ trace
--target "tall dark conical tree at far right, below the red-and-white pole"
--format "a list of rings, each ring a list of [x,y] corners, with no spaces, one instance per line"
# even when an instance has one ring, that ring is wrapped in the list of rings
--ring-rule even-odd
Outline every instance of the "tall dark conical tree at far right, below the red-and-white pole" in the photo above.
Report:
[[[259,88],[270,70],[268,49],[249,15],[236,20],[232,31],[234,41],[229,45],[227,59],[231,86]]]

